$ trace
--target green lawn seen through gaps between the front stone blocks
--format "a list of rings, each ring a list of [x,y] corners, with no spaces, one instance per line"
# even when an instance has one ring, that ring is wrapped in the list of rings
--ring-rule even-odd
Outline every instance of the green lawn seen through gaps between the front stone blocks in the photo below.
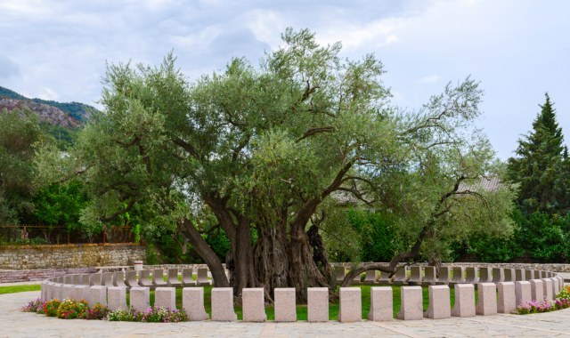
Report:
[[[368,312],[371,310],[371,286],[353,286],[353,287],[360,287],[362,293],[362,318],[368,318]],[[400,311],[400,291],[401,286],[392,286],[392,293],[393,293],[393,313],[394,317]],[[429,294],[428,294],[428,287],[422,287],[422,297],[423,297],[423,305],[424,311],[428,310],[429,304]],[[129,294],[126,294],[127,303],[129,302]],[[211,299],[212,299],[212,286],[204,286],[204,308],[209,315],[212,314],[212,307],[211,307]],[[477,299],[477,292],[475,292],[475,299]],[[455,293],[454,290],[450,290],[450,302],[451,305],[455,303]],[[151,290],[151,304],[154,304],[154,290]],[[182,288],[176,288],[176,308],[182,309]],[[238,319],[242,318],[242,311],[240,306],[234,306],[235,313],[238,315]],[[339,310],[339,303],[338,300],[336,302],[331,302],[329,305],[329,319],[330,320],[337,320],[338,319],[338,310]],[[275,318],[273,306],[266,306],[265,313],[267,314],[268,320],[273,320]],[[297,305],[297,320],[306,320],[307,319],[307,309],[306,305]]]

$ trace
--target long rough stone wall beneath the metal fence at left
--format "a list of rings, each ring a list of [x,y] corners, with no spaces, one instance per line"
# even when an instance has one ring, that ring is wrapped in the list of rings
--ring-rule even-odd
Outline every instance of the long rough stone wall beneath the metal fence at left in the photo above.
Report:
[[[0,247],[0,270],[131,265],[145,247],[133,244],[9,245]]]

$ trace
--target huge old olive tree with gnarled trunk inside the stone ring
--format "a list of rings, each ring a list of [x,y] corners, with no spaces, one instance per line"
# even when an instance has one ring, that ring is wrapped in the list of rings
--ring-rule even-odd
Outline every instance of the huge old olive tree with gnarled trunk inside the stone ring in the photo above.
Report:
[[[93,226],[136,210],[146,230],[176,228],[217,286],[330,286],[320,215],[347,194],[394,215],[398,262],[440,256],[450,238],[509,233],[513,194],[477,187],[497,175],[493,149],[473,127],[481,91],[467,78],[422,109],[394,107],[372,54],[343,60],[306,29],[287,29],[259,67],[233,59],[190,83],[167,55],[158,67],[111,65],[101,114],[67,158],[81,173]],[[47,177],[47,175],[44,175]],[[208,213],[230,243],[222,264],[203,237]],[[211,228],[211,226],[208,226]]]

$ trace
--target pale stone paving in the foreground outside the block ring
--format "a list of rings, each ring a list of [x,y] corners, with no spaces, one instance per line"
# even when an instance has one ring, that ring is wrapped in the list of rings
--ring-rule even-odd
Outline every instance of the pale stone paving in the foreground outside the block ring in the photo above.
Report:
[[[0,337],[570,337],[570,309],[527,316],[329,323],[118,323],[20,312],[39,292],[0,294]]]

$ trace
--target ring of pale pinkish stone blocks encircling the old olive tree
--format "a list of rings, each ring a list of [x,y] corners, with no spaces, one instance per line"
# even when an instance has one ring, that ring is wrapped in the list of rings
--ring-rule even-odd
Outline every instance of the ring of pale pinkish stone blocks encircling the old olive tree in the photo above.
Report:
[[[182,275],[179,279],[179,272]],[[346,269],[336,267],[337,280],[345,277]],[[166,281],[165,281],[166,279]],[[355,279],[354,283],[360,283]],[[386,273],[367,271],[362,280],[371,287],[371,321],[389,321],[392,316],[392,288],[402,286],[401,309],[397,318],[417,320],[422,318],[451,318],[490,316],[510,313],[517,306],[529,301],[552,300],[564,286],[564,279],[545,270],[503,269],[489,267],[440,267],[403,266],[393,278]],[[204,288],[211,285],[208,269],[197,269],[194,278],[192,269],[127,270],[92,274],[75,274],[48,278],[42,282],[41,300],[52,299],[86,300],[100,302],[110,310],[126,310],[126,291],[129,290],[130,305],[135,310],[146,310],[150,305],[150,291],[155,290],[155,306],[175,309],[176,287],[183,287],[182,307],[189,320],[207,320],[204,307]],[[428,310],[423,311],[421,286],[428,286]],[[450,287],[454,288],[455,304],[450,305]],[[475,289],[478,302],[475,302]],[[297,320],[295,289],[274,290],[276,322]],[[360,288],[340,288],[340,322],[362,320],[362,294]],[[211,294],[211,320],[236,321],[233,309],[233,289],[214,287]],[[245,288],[242,293],[243,321],[266,320],[264,289]],[[329,289],[307,289],[307,318],[309,322],[329,321]]]

